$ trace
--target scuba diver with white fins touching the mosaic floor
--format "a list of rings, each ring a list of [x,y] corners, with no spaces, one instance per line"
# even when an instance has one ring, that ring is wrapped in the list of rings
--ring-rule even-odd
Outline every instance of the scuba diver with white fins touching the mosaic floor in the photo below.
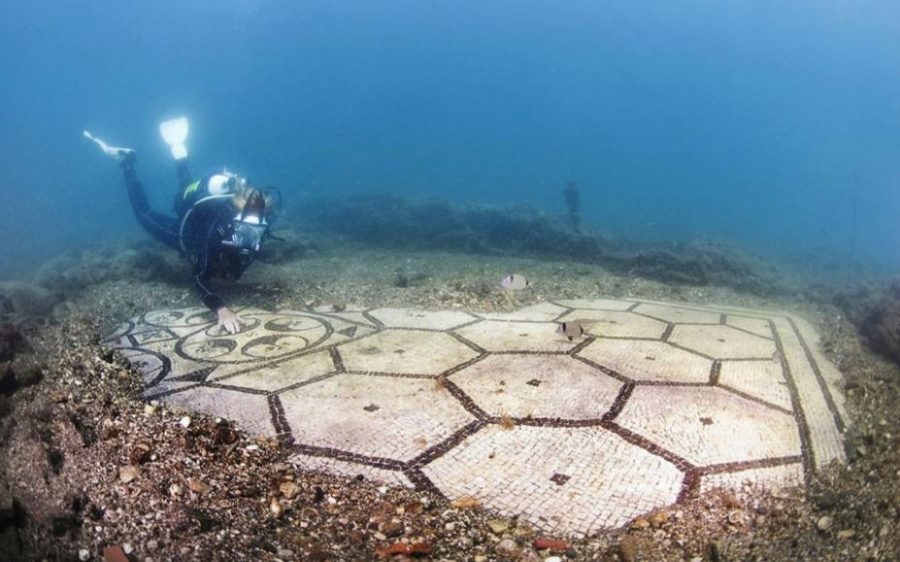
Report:
[[[133,149],[110,146],[88,131],[84,136],[119,161],[138,222],[154,238],[191,261],[203,304],[215,313],[220,329],[236,334],[243,320],[225,306],[209,281],[213,277],[239,279],[253,263],[268,234],[270,194],[228,171],[193,180],[187,165],[187,119],[165,121],[159,131],[175,158],[178,173],[174,217],[150,208],[134,167]]]

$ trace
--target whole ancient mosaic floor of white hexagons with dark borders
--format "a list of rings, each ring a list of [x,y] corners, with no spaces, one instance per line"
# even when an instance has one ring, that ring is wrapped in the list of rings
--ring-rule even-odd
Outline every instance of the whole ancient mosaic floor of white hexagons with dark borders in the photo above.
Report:
[[[843,461],[841,374],[798,318],[636,300],[514,313],[150,312],[107,340],[144,396],[282,440],[298,466],[471,496],[584,535]],[[586,337],[556,333],[581,321]]]

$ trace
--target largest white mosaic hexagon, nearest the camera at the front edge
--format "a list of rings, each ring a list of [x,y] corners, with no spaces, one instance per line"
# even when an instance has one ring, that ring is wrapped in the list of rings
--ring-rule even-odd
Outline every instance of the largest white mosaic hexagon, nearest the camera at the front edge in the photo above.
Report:
[[[496,425],[423,471],[451,498],[471,496],[504,515],[573,534],[618,527],[673,503],[684,476],[668,461],[599,427]]]

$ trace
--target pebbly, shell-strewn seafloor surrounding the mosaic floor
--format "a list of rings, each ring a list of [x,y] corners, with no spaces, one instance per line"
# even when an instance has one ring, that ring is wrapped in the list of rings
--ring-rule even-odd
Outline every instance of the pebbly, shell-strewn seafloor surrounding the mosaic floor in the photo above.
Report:
[[[807,490],[714,492],[579,539],[544,536],[477,501],[298,472],[276,441],[195,414],[185,427],[188,413],[138,398],[138,376],[100,346],[102,336],[136,313],[195,306],[196,297],[186,266],[164,250],[110,249],[4,286],[0,559],[101,560],[106,547],[130,560],[900,558],[900,374],[844,310],[799,285],[759,296],[575,261],[340,246],[278,261],[255,265],[224,289],[226,299],[486,312],[636,297],[783,310],[815,325],[846,378],[849,462],[821,471]],[[501,290],[509,272],[532,285]],[[537,538],[564,544],[538,550]],[[395,543],[424,546],[384,550]],[[106,559],[122,559],[114,554]]]

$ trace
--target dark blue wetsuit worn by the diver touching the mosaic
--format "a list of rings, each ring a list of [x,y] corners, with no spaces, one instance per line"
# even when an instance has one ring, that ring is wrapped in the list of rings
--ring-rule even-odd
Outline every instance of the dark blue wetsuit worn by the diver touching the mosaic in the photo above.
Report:
[[[180,189],[176,195],[177,216],[164,215],[150,208],[144,186],[134,168],[134,153],[122,160],[128,199],[138,222],[154,238],[175,248],[188,258],[194,266],[194,283],[200,298],[213,312],[225,306],[225,302],[210,287],[211,278],[239,279],[244,270],[253,263],[255,252],[236,252],[224,244],[231,238],[234,208],[230,198],[208,200],[195,203],[210,195],[209,178],[199,182],[191,181],[187,159],[177,161]],[[192,209],[193,207],[193,209]],[[182,221],[190,211],[189,220]]]

